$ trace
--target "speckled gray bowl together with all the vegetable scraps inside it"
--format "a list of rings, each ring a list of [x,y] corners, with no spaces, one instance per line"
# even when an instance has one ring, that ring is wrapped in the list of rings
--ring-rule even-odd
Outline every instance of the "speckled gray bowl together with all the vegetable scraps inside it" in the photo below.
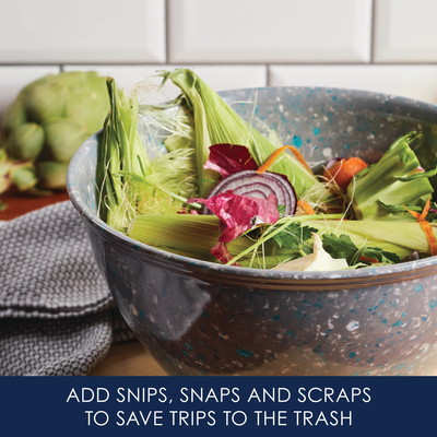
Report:
[[[68,189],[169,375],[437,375],[437,107],[322,87],[116,91]]]

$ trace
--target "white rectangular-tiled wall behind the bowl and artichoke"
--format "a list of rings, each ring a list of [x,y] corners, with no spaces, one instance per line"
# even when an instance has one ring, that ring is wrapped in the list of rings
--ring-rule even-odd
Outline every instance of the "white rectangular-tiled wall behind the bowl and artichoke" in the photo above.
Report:
[[[435,16],[436,0],[1,0],[0,115],[49,72],[97,70],[130,88],[180,66],[216,90],[320,85],[437,103]]]

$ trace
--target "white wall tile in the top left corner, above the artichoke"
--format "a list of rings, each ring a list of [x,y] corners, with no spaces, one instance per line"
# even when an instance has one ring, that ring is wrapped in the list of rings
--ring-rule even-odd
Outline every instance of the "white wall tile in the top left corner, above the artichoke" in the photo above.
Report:
[[[0,61],[165,62],[164,0],[1,0]]]

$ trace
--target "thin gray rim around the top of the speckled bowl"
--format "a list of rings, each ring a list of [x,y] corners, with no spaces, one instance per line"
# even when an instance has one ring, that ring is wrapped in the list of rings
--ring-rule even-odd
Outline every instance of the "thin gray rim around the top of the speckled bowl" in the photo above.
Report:
[[[328,90],[335,90],[339,92],[347,92],[352,93],[353,95],[355,94],[356,96],[366,96],[366,98],[371,98],[371,97],[378,97],[378,98],[388,98],[388,99],[394,99],[394,98],[402,98],[403,103],[414,103],[416,105],[416,109],[426,109],[430,110],[436,114],[437,116],[437,105],[423,102],[423,101],[417,101],[409,97],[402,97],[402,96],[393,96],[392,94],[387,94],[387,93],[378,93],[378,92],[371,92],[371,91],[363,91],[363,90],[354,90],[354,88],[340,88],[340,87],[334,87],[334,86],[261,86],[261,87],[249,87],[249,88],[236,88],[236,90],[226,90],[226,91],[221,91],[218,92],[218,95],[222,97],[226,97],[227,94],[235,93],[235,92],[256,92],[260,90],[270,90],[270,88],[292,88],[292,90],[317,90],[317,91],[328,91]],[[263,279],[263,280],[293,280],[293,281],[310,281],[310,282],[324,282],[327,280],[331,281],[351,281],[354,279],[374,279],[375,276],[392,276],[397,275],[400,273],[418,273],[421,270],[428,270],[427,268],[435,267],[437,264],[437,256],[434,257],[428,257],[424,259],[420,259],[416,261],[408,261],[408,262],[402,262],[398,264],[391,264],[391,265],[380,265],[376,268],[366,268],[366,269],[357,269],[357,270],[336,270],[336,271],[321,271],[321,272],[311,272],[311,271],[303,271],[303,272],[287,272],[287,271],[272,271],[272,270],[262,270],[262,269],[249,269],[249,268],[243,268],[243,267],[233,267],[233,265],[225,265],[225,264],[220,264],[215,262],[210,262],[210,261],[202,261],[198,260],[194,258],[190,257],[185,257],[180,255],[175,255],[172,252],[167,252],[165,250],[161,250],[157,248],[154,248],[152,246],[145,245],[143,243],[137,241],[127,235],[111,228],[108,226],[105,222],[103,222],[101,218],[98,218],[90,209],[88,206],[83,202],[79,190],[75,186],[74,182],[74,167],[76,163],[81,160],[82,154],[86,153],[86,147],[90,141],[97,141],[97,134],[99,133],[96,132],[93,135],[91,135],[75,152],[73,157],[71,158],[69,166],[68,166],[68,172],[67,172],[67,190],[68,194],[70,197],[70,200],[74,208],[78,210],[80,215],[82,215],[94,228],[96,228],[99,234],[103,234],[104,237],[108,238],[109,236],[121,243],[125,247],[127,248],[133,248],[135,250],[139,250],[145,255],[151,255],[157,259],[161,259],[163,262],[168,262],[170,261],[173,264],[178,264],[181,268],[185,269],[192,269],[193,267],[202,269],[203,271],[205,269],[210,269],[211,272],[214,273],[223,273],[225,275],[231,275],[231,276],[238,276],[239,281],[241,279],[246,277],[252,277],[252,279]],[[420,274],[422,275],[422,274]],[[226,280],[225,280],[226,281]],[[365,281],[363,281],[364,285]],[[331,283],[332,284],[332,283]],[[323,285],[320,285],[322,288]]]

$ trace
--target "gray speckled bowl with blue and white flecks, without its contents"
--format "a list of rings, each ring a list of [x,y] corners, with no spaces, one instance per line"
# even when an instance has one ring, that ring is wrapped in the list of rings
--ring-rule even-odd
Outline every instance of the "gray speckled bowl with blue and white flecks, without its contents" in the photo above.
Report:
[[[264,87],[221,93],[307,161],[377,161],[400,134],[436,161],[437,107],[361,91]],[[138,339],[169,375],[437,375],[437,259],[336,272],[198,261],[137,243],[96,216],[96,138],[74,155],[71,201]],[[405,235],[405,238],[409,236]]]

